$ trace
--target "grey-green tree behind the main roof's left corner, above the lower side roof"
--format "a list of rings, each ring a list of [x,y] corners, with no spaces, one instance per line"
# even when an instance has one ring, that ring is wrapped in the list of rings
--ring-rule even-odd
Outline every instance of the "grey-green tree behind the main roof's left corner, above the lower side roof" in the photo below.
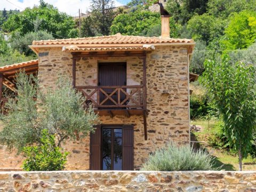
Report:
[[[53,39],[52,34],[46,31],[29,32],[25,35],[21,35],[19,32],[14,33],[10,39],[13,49],[18,50],[20,53],[28,55],[34,55],[35,53],[28,47],[32,45],[33,41]]]

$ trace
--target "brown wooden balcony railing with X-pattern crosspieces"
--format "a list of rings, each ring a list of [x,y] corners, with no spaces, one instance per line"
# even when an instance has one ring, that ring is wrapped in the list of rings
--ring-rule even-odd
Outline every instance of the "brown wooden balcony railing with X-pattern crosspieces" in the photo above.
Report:
[[[143,85],[76,86],[76,89],[84,94],[85,105],[92,104],[95,108],[143,109]]]

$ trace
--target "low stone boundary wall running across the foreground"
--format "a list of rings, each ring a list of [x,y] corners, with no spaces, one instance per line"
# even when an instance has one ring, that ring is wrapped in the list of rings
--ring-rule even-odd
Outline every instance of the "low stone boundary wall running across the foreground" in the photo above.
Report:
[[[256,191],[256,171],[0,172],[0,191]]]

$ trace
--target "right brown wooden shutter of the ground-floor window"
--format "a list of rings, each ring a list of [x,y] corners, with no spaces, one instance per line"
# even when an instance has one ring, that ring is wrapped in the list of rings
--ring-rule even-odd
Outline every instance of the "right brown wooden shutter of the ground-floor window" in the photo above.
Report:
[[[133,170],[133,125],[123,125],[123,170]]]

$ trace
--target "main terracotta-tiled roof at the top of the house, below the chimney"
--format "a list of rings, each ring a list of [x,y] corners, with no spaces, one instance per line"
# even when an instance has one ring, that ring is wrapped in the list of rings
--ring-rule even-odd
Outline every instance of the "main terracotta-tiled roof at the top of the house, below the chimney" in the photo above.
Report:
[[[141,37],[127,35],[110,35],[100,37],[69,38],[33,41],[33,45],[97,45],[97,44],[155,44],[155,43],[194,43],[193,39],[176,39],[161,37]]]

